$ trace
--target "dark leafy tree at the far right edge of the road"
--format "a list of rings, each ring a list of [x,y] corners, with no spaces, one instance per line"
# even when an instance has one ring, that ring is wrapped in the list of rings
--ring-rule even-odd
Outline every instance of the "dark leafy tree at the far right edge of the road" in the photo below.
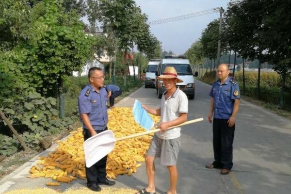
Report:
[[[286,76],[291,71],[291,1],[261,1],[263,10],[268,13],[262,25],[262,44],[267,48],[268,61],[282,78],[279,106],[283,108]]]

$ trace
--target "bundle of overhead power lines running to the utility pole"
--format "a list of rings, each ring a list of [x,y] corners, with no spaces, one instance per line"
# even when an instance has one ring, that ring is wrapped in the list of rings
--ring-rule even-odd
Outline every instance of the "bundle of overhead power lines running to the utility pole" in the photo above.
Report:
[[[150,21],[150,22],[148,22],[148,24],[158,25],[158,24],[163,24],[163,23],[168,23],[168,22],[173,22],[173,21],[178,21],[178,20],[183,20],[183,19],[190,19],[190,18],[198,17],[198,16],[205,16],[208,14],[217,13],[217,12],[219,12],[219,9],[220,8],[217,7],[217,8],[212,8],[212,9],[208,9],[208,10],[204,10],[204,11],[200,11],[200,12],[194,12],[194,13],[190,13],[190,14],[185,14],[185,15],[181,15],[181,16],[168,17],[168,18],[164,18],[164,19]]]

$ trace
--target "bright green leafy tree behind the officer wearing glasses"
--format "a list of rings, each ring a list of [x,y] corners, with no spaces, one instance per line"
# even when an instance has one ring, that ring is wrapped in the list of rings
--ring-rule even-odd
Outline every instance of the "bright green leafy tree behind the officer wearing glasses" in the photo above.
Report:
[[[54,0],[35,5],[32,16],[38,19],[30,24],[30,41],[16,51],[26,53],[26,72],[32,78],[31,85],[41,94],[59,96],[60,116],[64,117],[63,79],[80,70],[88,56],[93,57],[95,39],[83,32],[78,15],[65,13],[62,5]]]

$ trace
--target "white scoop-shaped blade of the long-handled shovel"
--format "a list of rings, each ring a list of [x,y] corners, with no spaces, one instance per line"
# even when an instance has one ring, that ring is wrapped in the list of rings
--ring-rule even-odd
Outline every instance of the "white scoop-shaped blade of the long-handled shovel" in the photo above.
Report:
[[[105,130],[87,139],[84,142],[86,166],[91,167],[109,154],[113,150],[114,144],[115,138],[111,130]]]

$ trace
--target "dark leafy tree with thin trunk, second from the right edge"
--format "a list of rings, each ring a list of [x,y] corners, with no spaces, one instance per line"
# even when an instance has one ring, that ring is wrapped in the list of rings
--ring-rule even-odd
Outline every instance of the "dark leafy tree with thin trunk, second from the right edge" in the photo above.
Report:
[[[264,53],[266,47],[262,44],[265,37],[262,36],[261,31],[267,12],[262,7],[264,5],[261,0],[234,0],[228,4],[225,14],[227,45],[244,59],[259,60],[258,98],[260,97],[260,66],[266,61]]]

